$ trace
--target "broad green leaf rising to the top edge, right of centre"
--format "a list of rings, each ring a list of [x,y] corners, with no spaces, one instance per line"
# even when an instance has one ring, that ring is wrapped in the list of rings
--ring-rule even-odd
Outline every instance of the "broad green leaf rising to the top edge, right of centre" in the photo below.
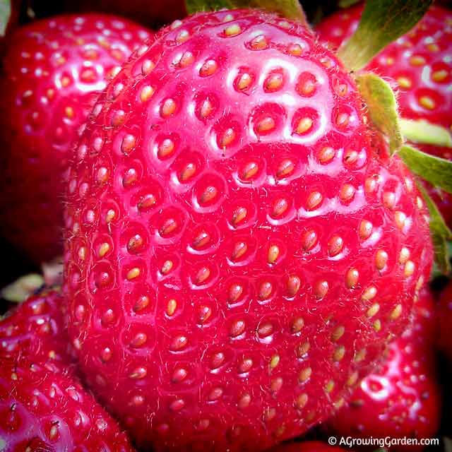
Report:
[[[338,56],[351,71],[358,71],[381,49],[405,35],[424,16],[432,0],[366,0],[361,20]]]

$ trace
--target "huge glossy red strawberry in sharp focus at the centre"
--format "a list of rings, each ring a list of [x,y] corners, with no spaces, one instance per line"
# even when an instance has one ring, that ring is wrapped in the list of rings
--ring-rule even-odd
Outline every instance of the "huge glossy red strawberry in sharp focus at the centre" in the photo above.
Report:
[[[143,447],[263,449],[326,419],[432,261],[354,81],[268,13],[159,32],[101,95],[68,181],[69,333]]]

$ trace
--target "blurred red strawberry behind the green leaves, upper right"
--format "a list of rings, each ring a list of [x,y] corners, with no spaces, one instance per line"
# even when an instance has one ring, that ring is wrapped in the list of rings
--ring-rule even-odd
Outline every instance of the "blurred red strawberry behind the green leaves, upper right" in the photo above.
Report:
[[[357,28],[362,4],[326,18],[316,31],[321,40],[339,47]],[[391,78],[398,89],[400,115],[405,119],[427,119],[452,127],[452,12],[432,6],[420,23],[389,44],[366,67]],[[452,160],[452,149],[416,144],[426,153]],[[448,225],[452,225],[452,196],[431,187]]]

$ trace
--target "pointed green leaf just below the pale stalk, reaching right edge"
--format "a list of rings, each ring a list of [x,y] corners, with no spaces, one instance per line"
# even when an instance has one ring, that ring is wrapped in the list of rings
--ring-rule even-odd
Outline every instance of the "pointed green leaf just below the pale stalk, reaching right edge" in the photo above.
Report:
[[[403,145],[398,150],[398,155],[412,172],[430,184],[452,193],[452,162],[408,145]]]

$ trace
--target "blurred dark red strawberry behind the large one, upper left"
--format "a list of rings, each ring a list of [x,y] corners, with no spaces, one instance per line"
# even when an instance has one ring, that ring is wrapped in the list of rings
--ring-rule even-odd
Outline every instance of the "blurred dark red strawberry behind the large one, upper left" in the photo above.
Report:
[[[105,15],[40,20],[11,36],[0,81],[0,231],[35,261],[61,254],[61,172],[78,127],[147,36]]]

